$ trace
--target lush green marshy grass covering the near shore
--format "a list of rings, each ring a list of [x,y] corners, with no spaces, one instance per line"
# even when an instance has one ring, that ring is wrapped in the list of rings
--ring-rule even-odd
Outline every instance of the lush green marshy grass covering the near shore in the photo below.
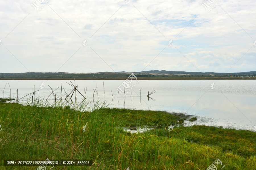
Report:
[[[168,131],[184,119],[161,111],[82,108],[0,102],[0,169],[38,167],[4,166],[5,159],[48,158],[94,161],[92,166],[53,167],[63,170],[205,170],[219,158],[224,170],[255,170],[255,132],[209,126]],[[123,131],[129,126],[156,128],[131,134]]]

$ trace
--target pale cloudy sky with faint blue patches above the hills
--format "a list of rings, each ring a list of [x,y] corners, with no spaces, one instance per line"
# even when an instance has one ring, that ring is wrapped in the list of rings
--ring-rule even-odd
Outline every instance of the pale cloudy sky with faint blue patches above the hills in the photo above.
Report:
[[[256,71],[255,9],[253,0],[0,0],[0,72]]]

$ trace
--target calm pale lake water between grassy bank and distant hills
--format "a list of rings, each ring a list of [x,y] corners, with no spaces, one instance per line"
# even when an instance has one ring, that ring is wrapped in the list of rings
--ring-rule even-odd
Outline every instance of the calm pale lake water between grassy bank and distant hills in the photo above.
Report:
[[[134,80],[135,81],[135,80]],[[69,80],[8,80],[11,86],[11,96],[21,98],[35,90],[37,97],[45,99],[51,94],[49,86],[55,90],[57,99],[60,99],[61,83],[66,93],[69,94],[73,89]],[[44,82],[44,88],[40,84]],[[68,82],[69,84],[67,84]],[[123,97],[124,93],[119,93],[117,99],[117,88],[124,80],[104,80],[105,103],[109,107],[168,111],[185,113],[197,116],[197,121],[191,124],[205,124],[207,126],[223,126],[224,128],[247,129],[253,131],[256,125],[256,80],[136,80],[131,91]],[[214,82],[215,88],[211,88]],[[0,97],[9,97],[9,86],[5,87],[7,80],[0,80]],[[72,81],[74,84],[74,80]],[[48,86],[49,85],[49,86]],[[86,89],[86,100],[99,100],[103,102],[104,90],[103,80],[76,80],[78,90],[84,95]],[[3,89],[5,87],[5,92]],[[123,86],[121,86],[123,89]],[[93,90],[94,89],[94,90]],[[113,92],[113,100],[112,93]],[[140,94],[141,90],[141,94]],[[146,95],[155,90],[148,99]],[[127,92],[128,90],[126,90]],[[98,92],[98,95],[97,95]],[[141,97],[140,97],[141,95]],[[25,102],[32,95],[23,98]],[[78,101],[83,97],[78,94]],[[62,98],[66,94],[62,89]],[[75,97],[73,95],[73,102]],[[50,101],[54,102],[51,95]],[[71,102],[71,100],[68,100]],[[22,102],[22,99],[20,100]],[[189,122],[187,122],[189,124]]]

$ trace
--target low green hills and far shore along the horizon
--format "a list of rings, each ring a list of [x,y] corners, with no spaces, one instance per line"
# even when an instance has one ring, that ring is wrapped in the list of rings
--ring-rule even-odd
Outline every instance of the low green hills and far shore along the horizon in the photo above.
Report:
[[[214,72],[186,72],[186,71],[166,71],[166,70],[150,70],[133,72],[140,79],[221,79],[232,76],[254,76],[256,78],[256,71],[241,72],[241,73],[214,73]],[[100,72],[100,73],[0,73],[0,80],[2,79],[126,79],[131,73],[120,72]]]

